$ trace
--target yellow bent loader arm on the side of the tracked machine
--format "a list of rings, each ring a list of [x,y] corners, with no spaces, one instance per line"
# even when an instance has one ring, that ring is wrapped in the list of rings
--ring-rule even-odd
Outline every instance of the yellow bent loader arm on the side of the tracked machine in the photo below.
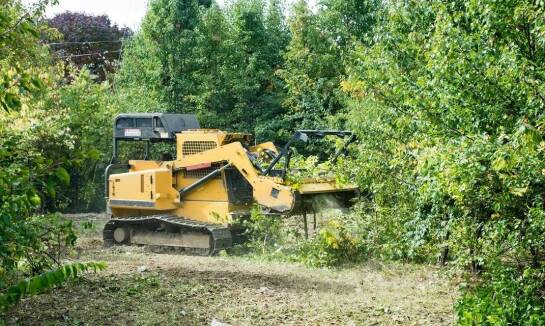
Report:
[[[240,142],[219,146],[197,154],[188,155],[182,161],[174,162],[174,170],[225,162],[236,168],[253,188],[257,203],[277,212],[291,211],[295,206],[295,194],[290,187],[279,184],[280,178],[262,176],[248,158],[247,150]]]

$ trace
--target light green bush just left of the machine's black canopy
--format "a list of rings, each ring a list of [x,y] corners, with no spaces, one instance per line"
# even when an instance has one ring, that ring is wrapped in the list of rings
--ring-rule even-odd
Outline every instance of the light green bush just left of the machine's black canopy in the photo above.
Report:
[[[85,68],[71,78],[71,83],[49,92],[44,106],[44,112],[62,113],[50,121],[50,127],[64,129],[71,138],[71,146],[60,151],[71,161],[67,166],[70,184],[60,195],[68,201],[67,210],[99,211],[104,209],[103,172],[111,157],[111,126],[117,108],[107,82],[95,83]]]

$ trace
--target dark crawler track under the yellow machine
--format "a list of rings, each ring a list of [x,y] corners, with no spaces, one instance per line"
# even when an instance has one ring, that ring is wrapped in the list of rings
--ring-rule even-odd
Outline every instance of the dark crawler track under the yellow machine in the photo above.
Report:
[[[197,222],[193,220],[184,219],[175,215],[150,215],[150,216],[131,216],[131,217],[114,217],[110,219],[104,226],[102,236],[104,239],[104,246],[110,247],[115,244],[114,230],[118,224],[123,225],[142,225],[150,222],[162,222],[170,224],[171,226],[177,226],[191,231],[199,231],[210,234],[213,239],[213,246],[210,249],[202,248],[184,248],[189,249],[190,253],[197,255],[214,255],[220,250],[230,248],[233,244],[231,231],[229,228],[218,225]],[[159,246],[169,247],[169,246]]]

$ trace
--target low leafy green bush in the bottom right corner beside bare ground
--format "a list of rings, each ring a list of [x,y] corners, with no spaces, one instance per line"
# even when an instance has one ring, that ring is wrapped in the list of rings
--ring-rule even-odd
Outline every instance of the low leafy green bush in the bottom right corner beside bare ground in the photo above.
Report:
[[[544,270],[498,267],[465,285],[456,303],[461,325],[545,324]]]

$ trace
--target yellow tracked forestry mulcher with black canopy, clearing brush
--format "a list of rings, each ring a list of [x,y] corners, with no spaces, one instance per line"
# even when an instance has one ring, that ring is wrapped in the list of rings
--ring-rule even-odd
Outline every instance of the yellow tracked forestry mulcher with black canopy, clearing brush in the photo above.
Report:
[[[111,219],[103,230],[104,245],[212,255],[232,246],[239,232],[235,219],[248,217],[255,203],[271,214],[304,214],[305,223],[313,196],[329,194],[349,206],[358,194],[355,186],[331,177],[304,179],[297,187],[287,182],[293,143],[327,135],[345,139],[332,160],[355,140],[349,131],[300,130],[278,148],[272,142],[252,144],[246,133],[201,129],[190,114],[121,114],[114,121],[113,158],[105,171]],[[144,159],[119,163],[122,141],[142,141]],[[156,142],[175,142],[176,159],[165,154],[149,160],[150,144]],[[275,168],[280,160],[283,167]]]

